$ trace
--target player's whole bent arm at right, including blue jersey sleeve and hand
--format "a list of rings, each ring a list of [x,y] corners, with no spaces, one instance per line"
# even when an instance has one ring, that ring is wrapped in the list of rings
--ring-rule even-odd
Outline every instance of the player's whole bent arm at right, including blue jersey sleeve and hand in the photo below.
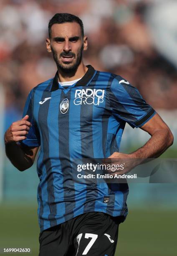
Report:
[[[109,100],[114,118],[124,120],[132,128],[141,128],[151,135],[147,143],[136,151],[130,154],[114,152],[109,156],[114,163],[126,159],[126,168],[121,173],[127,173],[135,166],[157,158],[172,145],[173,135],[169,127],[143,99],[137,88],[124,78],[114,78],[110,86]]]

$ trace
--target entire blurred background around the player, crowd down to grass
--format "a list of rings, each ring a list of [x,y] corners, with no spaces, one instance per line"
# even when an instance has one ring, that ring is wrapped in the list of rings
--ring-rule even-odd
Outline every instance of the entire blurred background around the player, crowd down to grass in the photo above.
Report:
[[[35,165],[19,172],[5,157],[3,135],[21,119],[28,92],[54,76],[46,51],[48,22],[55,13],[83,20],[88,50],[84,64],[119,74],[169,125],[174,144],[162,158],[177,158],[176,0],[0,1],[0,250],[31,248],[38,255]],[[149,138],[126,125],[121,152]],[[119,228],[116,256],[164,256],[177,251],[177,184],[130,184],[129,215]]]

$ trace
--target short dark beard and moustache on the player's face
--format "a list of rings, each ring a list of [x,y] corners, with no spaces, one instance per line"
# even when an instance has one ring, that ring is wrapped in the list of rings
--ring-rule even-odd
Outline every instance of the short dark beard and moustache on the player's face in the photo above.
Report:
[[[81,63],[82,60],[82,53],[83,53],[83,45],[79,49],[77,55],[74,54],[72,51],[68,52],[67,54],[63,51],[58,58],[57,52],[51,47],[51,51],[53,54],[53,59],[56,62],[57,69],[60,69],[63,73],[73,73],[76,72],[79,64]],[[63,63],[60,58],[62,56],[72,56],[73,61],[72,63]]]

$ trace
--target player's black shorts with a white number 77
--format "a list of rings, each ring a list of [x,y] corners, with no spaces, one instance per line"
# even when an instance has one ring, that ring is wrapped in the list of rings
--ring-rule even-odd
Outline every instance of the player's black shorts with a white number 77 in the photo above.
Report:
[[[43,230],[39,256],[114,256],[121,217],[87,212]]]

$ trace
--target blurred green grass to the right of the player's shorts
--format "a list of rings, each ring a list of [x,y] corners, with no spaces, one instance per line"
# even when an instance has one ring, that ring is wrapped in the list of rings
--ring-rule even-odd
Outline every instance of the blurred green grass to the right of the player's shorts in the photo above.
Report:
[[[177,252],[177,211],[129,210],[119,226],[115,256],[174,256]]]

